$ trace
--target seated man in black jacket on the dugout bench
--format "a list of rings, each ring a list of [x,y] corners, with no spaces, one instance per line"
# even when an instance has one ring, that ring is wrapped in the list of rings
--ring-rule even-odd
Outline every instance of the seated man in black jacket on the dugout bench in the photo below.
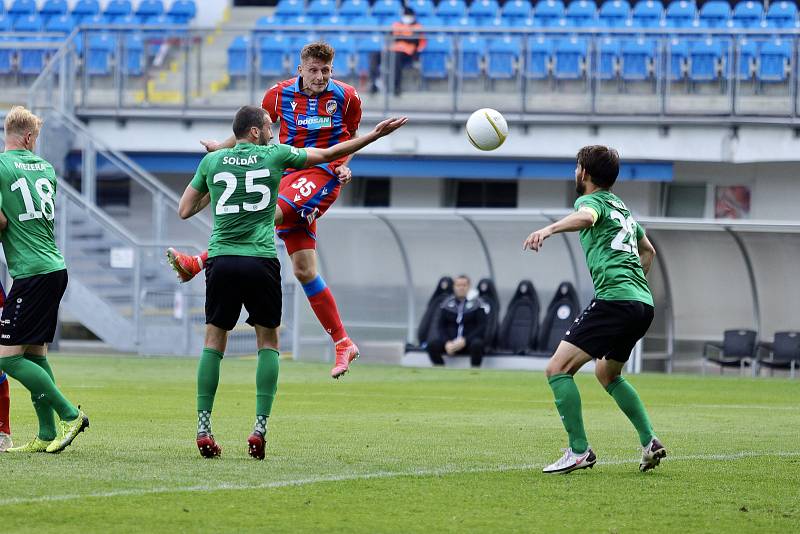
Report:
[[[442,354],[447,353],[469,354],[472,367],[481,366],[488,305],[479,298],[467,300],[469,287],[469,277],[460,275],[453,282],[453,296],[442,303],[428,341],[433,365],[444,365]]]

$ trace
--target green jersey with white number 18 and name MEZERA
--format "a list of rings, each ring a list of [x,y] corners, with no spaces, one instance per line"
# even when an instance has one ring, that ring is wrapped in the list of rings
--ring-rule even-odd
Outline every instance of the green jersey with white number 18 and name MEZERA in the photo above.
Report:
[[[8,219],[2,243],[12,278],[66,268],[56,246],[55,201],[52,165],[28,150],[0,154],[0,202]]]

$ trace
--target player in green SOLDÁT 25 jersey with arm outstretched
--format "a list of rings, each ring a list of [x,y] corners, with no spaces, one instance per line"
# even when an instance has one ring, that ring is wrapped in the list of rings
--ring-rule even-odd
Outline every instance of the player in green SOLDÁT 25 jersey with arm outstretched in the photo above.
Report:
[[[244,106],[233,120],[236,145],[207,154],[181,197],[186,219],[209,203],[214,225],[206,262],[205,348],[197,371],[197,448],[206,458],[222,453],[211,433],[211,410],[228,332],[242,306],[255,327],[256,422],[247,440],[250,456],[264,459],[267,419],[278,385],[278,326],[281,322],[280,263],[275,250],[277,188],[286,168],[302,169],[353,154],[406,123],[387,119],[365,136],[330,148],[270,145],[266,111]],[[280,214],[280,211],[278,211]]]

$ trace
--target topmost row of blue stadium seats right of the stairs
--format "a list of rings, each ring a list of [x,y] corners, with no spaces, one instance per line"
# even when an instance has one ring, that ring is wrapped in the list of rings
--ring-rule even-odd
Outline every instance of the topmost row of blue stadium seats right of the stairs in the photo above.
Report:
[[[577,27],[577,28],[795,28],[798,11],[794,2],[772,2],[764,10],[761,2],[745,0],[731,9],[726,0],[711,0],[700,10],[693,1],[674,0],[664,8],[660,0],[641,0],[633,8],[627,0],[606,0],[597,8],[592,0],[410,0],[423,26]],[[400,0],[280,0],[275,13],[262,17],[258,26],[339,25],[385,26],[399,19]]]

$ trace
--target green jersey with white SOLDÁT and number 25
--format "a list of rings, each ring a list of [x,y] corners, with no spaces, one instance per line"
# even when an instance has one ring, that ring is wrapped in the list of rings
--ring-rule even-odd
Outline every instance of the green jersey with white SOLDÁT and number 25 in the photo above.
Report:
[[[301,169],[305,162],[306,151],[289,145],[239,143],[206,154],[191,185],[211,193],[208,256],[275,258],[278,184],[284,169]]]

